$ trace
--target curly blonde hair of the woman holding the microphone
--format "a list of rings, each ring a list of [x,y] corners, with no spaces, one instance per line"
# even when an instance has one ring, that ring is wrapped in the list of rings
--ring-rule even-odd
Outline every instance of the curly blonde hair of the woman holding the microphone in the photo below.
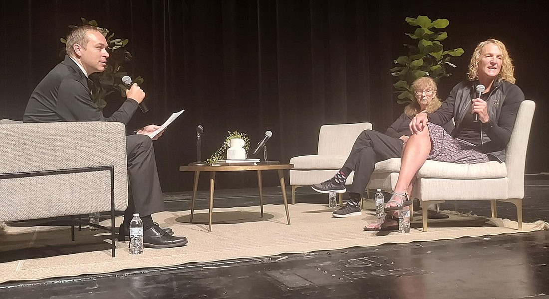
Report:
[[[480,61],[480,54],[482,53],[482,49],[487,44],[495,44],[498,48],[500,48],[501,51],[501,71],[497,75],[497,78],[505,80],[510,83],[515,83],[514,78],[514,66],[513,66],[513,60],[509,56],[509,53],[507,52],[507,48],[505,47],[505,44],[498,41],[494,38],[489,38],[488,40],[484,42],[480,42],[477,45],[477,48],[473,51],[473,55],[471,55],[471,61],[469,62],[469,72],[467,73],[467,77],[469,78],[469,81],[474,81],[478,79],[478,64]]]

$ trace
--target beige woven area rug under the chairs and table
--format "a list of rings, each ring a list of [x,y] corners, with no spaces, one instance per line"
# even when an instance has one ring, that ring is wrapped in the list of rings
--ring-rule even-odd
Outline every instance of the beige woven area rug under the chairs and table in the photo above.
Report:
[[[110,254],[107,233],[83,229],[76,231],[76,241],[72,242],[69,227],[7,226],[0,234],[0,283],[519,232],[514,221],[456,213],[446,220],[430,220],[428,232],[421,231],[421,217],[414,219],[411,233],[366,232],[362,230],[363,226],[375,219],[371,211],[357,217],[332,218],[332,210],[323,205],[296,204],[289,209],[291,226],[288,226],[283,205],[265,205],[264,218],[260,218],[259,206],[214,209],[212,232],[208,232],[207,210],[195,212],[195,223],[188,223],[189,211],[161,212],[154,215],[154,220],[163,227],[173,228],[176,235],[186,236],[188,245],[145,249],[142,255],[130,255],[127,243],[117,241],[115,258]],[[120,223],[122,218],[116,220]],[[102,224],[109,222],[105,220]],[[549,225],[543,221],[524,223],[522,232],[547,228]]]

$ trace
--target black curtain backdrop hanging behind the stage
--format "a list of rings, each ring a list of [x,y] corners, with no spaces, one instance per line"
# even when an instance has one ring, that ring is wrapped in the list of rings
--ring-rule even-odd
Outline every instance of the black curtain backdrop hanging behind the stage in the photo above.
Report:
[[[517,85],[536,101],[527,173],[549,170],[545,157],[549,13],[545,1],[160,1],[0,0],[0,118],[20,120],[33,88],[61,60],[59,38],[80,18],[95,19],[128,38],[133,76],[141,75],[147,114],[128,125],[161,124],[186,112],[155,142],[165,192],[192,189],[178,171],[196,160],[195,128],[204,127],[202,157],[227,131],[255,146],[266,130],[270,159],[315,154],[323,124],[371,122],[384,131],[402,112],[389,69],[405,55],[407,16],[450,20],[445,49],[462,47],[457,68],[439,85],[442,99],[466,78],[475,45],[487,38],[508,46]],[[108,99],[110,114],[122,99]],[[93,150],[93,149],[90,149]],[[276,174],[265,174],[274,186]],[[220,174],[218,187],[256,186],[255,173]],[[207,188],[205,177],[200,184]]]

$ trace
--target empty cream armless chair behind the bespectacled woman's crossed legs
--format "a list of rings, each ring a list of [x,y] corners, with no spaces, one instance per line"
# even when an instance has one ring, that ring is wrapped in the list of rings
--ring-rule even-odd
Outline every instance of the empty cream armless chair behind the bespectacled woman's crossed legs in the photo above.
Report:
[[[371,123],[323,125],[318,136],[318,152],[315,155],[299,156],[290,159],[294,168],[290,169],[292,204],[295,204],[295,189],[311,186],[329,180],[343,166],[351,152],[356,137],[364,130],[371,130]],[[347,178],[352,184],[354,172]],[[339,203],[341,204],[341,194]]]

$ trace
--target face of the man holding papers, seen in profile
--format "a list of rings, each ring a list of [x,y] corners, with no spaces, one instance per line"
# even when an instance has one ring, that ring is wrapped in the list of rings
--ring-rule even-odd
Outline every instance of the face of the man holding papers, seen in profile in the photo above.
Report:
[[[89,30],[87,33],[88,43],[84,47],[76,49],[80,55],[82,67],[88,74],[103,72],[107,66],[107,39],[98,31]]]

